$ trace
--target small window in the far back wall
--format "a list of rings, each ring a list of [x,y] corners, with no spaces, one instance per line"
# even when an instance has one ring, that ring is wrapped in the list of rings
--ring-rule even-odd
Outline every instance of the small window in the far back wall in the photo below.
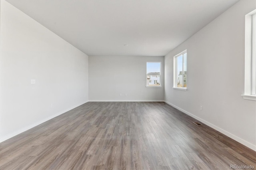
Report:
[[[146,87],[161,87],[161,62],[147,62]]]

